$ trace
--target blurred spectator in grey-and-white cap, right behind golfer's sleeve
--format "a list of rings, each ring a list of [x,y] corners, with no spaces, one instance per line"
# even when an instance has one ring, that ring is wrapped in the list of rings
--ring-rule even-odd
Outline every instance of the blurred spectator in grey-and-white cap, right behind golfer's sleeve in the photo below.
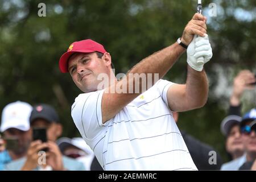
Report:
[[[58,139],[56,143],[63,155],[84,163],[85,169],[90,171],[94,153],[88,144],[86,144],[84,139],[80,137],[72,139],[63,137]]]

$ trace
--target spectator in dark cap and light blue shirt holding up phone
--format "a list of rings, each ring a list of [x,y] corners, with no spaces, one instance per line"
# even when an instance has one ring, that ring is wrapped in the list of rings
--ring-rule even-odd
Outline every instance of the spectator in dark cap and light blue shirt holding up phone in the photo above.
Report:
[[[52,106],[40,104],[33,107],[30,115],[31,127],[40,127],[46,129],[47,142],[40,140],[31,142],[26,157],[10,162],[5,165],[5,170],[85,170],[84,165],[75,159],[63,156],[59,147],[55,143],[56,139],[62,134],[62,126],[59,122],[59,116]],[[45,163],[39,163],[39,151],[47,148]],[[44,160],[40,160],[43,162]]]

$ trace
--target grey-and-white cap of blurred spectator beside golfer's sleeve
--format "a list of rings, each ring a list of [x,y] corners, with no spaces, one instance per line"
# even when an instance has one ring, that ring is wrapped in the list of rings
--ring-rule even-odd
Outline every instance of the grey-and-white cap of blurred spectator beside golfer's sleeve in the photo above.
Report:
[[[66,146],[72,145],[72,146],[75,146],[77,148],[80,148],[81,150],[85,151],[89,155],[93,154],[92,149],[88,146],[88,144],[85,142],[85,140],[82,139],[81,137],[72,138],[72,139],[67,138],[67,137],[62,137],[62,138],[59,138],[56,141],[56,143],[59,146],[61,152],[64,151]]]

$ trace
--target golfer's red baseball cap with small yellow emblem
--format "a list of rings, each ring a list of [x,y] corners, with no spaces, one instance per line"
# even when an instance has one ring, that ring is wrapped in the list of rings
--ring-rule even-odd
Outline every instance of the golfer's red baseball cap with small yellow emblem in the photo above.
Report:
[[[65,52],[60,57],[60,61],[59,61],[60,71],[63,73],[68,72],[68,59],[73,53],[75,53],[75,52],[90,53],[90,52],[96,52],[96,51],[101,52],[101,53],[106,52],[106,50],[104,49],[104,47],[101,44],[99,44],[91,39],[73,42],[68,47],[68,51]]]

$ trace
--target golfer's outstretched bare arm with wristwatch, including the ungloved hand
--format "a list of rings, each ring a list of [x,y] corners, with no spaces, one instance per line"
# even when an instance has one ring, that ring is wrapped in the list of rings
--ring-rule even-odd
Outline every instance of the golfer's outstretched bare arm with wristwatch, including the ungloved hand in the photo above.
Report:
[[[204,36],[206,33],[205,20],[206,18],[203,15],[195,14],[184,29],[181,42],[189,44],[193,39],[193,35],[195,34]],[[133,67],[129,73],[152,73],[152,79],[147,79],[146,82],[151,81],[152,84],[155,84],[155,82],[158,80],[154,78],[154,73],[159,74],[159,79],[162,78],[184,51],[185,49],[183,47],[177,43],[174,43],[172,46],[164,48],[161,51],[148,56],[146,59],[143,59],[137,65],[135,65],[135,67]],[[130,86],[135,88],[135,84],[139,84],[139,93],[129,93]],[[102,123],[105,123],[109,119],[113,118],[114,115],[117,114],[123,107],[145,91],[146,88],[143,88],[142,85],[141,79],[135,76],[127,75],[121,81],[118,81],[116,84],[113,84],[109,88],[105,89],[101,102]],[[111,93],[111,91],[115,90],[115,88],[126,88],[127,92]],[[135,90],[133,89],[133,91]]]

